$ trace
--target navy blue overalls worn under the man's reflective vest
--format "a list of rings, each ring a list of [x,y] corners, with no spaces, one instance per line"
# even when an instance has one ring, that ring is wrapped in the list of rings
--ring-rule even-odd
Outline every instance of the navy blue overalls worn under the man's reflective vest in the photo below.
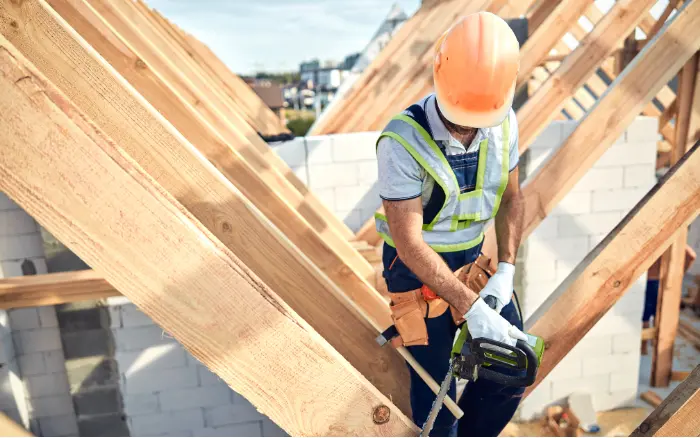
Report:
[[[425,110],[418,104],[408,108],[411,117],[423,128],[431,133]],[[439,143],[438,143],[439,144]],[[444,147],[440,148],[445,154]],[[478,151],[462,155],[446,155],[445,158],[457,177],[462,193],[474,189],[478,165]],[[439,212],[444,193],[435,185],[435,190],[430,196],[428,204],[423,210],[424,223],[428,224]],[[447,265],[456,271],[462,266],[472,263],[481,252],[481,244],[474,248],[439,253]],[[419,289],[423,283],[403,264],[398,258],[396,249],[384,243],[382,256],[384,264],[383,276],[389,292],[407,292]],[[501,311],[501,315],[511,324],[523,329],[522,321],[515,305],[511,301]],[[454,336],[457,331],[452,315],[446,311],[435,318],[427,318],[429,345],[406,347],[426,371],[440,384],[447,374],[450,352]],[[413,421],[422,427],[430,412],[435,394],[423,382],[423,380],[409,367],[411,376],[411,409]],[[431,436],[497,436],[512,418],[520,403],[524,390],[522,388],[506,387],[496,383],[479,379],[467,384],[465,392],[460,399],[459,407],[464,411],[464,416],[458,422],[452,413],[443,408],[438,415]],[[448,393],[454,400],[456,394],[455,382]]]

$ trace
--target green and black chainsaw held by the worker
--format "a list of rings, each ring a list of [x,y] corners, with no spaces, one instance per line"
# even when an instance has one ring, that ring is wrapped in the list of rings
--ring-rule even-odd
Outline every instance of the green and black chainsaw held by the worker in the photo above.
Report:
[[[492,309],[496,299],[484,298]],[[467,324],[462,325],[450,355],[450,368],[440,385],[437,397],[423,424],[420,436],[428,436],[433,429],[453,378],[475,382],[486,379],[505,386],[527,387],[535,382],[544,353],[544,340],[525,333],[527,341],[518,339],[515,347],[488,338],[472,338]]]

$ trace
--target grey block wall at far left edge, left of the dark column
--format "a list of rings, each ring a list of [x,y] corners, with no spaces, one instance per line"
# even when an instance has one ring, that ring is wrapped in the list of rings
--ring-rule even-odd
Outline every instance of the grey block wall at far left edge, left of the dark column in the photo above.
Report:
[[[46,273],[37,223],[0,193],[0,277],[31,262]],[[0,311],[0,410],[39,436],[77,436],[56,311],[52,306]]]

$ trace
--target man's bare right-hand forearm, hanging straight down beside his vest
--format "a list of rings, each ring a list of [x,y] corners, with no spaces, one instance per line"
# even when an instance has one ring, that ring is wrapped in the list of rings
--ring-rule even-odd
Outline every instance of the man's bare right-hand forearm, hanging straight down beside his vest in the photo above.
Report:
[[[508,177],[508,185],[503,192],[501,207],[496,214],[496,235],[498,236],[498,261],[515,264],[520,247],[525,218],[525,202],[520,190],[518,168]]]

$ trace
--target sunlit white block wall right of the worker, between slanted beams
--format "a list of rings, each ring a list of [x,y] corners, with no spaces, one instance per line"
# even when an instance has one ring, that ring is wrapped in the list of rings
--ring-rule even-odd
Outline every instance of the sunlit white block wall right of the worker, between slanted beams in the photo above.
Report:
[[[550,125],[521,171],[532,175],[574,127]],[[637,118],[523,244],[518,291],[526,319],[656,183],[656,137],[657,120]],[[634,405],[645,287],[646,276],[630,286],[523,402],[521,418],[540,415],[574,391],[590,393],[596,410]]]

